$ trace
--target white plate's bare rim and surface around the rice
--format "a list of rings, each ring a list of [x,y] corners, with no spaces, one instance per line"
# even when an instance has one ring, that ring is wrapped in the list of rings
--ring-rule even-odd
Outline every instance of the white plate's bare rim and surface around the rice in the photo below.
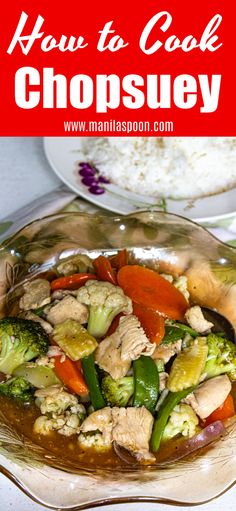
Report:
[[[93,195],[81,182],[79,162],[86,158],[81,150],[80,137],[45,137],[47,159],[57,176],[84,199],[101,208],[119,214],[133,213],[139,209],[158,209],[190,219],[206,221],[222,218],[236,211],[236,189],[196,200],[163,201],[156,197],[129,192],[113,184],[103,185],[105,193]],[[214,176],[212,176],[214,179]]]

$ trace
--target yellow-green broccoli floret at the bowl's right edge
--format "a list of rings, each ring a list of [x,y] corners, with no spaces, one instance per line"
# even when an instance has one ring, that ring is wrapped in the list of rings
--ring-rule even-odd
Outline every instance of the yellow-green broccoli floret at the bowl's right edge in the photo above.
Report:
[[[228,339],[216,334],[207,336],[208,355],[203,370],[204,378],[228,374],[236,380],[236,346]]]

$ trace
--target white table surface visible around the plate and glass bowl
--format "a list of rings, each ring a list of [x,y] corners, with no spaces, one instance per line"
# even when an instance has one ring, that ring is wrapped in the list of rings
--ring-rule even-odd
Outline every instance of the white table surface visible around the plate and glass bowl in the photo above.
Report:
[[[27,202],[54,190],[60,181],[53,174],[43,153],[40,138],[0,138],[0,219],[24,206]],[[208,482],[206,481],[206,484]],[[200,497],[200,496],[199,496]],[[236,489],[231,488],[218,499],[201,506],[189,507],[199,511],[235,510]],[[95,509],[95,508],[94,508]],[[112,511],[184,511],[186,507],[163,504],[130,504],[96,508]],[[45,511],[33,503],[13,483],[0,474],[0,511]]]

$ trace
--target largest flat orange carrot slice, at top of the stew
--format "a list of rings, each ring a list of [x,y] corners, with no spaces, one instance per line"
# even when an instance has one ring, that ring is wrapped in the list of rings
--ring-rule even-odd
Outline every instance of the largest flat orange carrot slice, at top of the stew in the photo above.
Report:
[[[119,286],[133,302],[171,319],[183,319],[189,307],[184,296],[156,271],[143,266],[123,266],[117,273]]]

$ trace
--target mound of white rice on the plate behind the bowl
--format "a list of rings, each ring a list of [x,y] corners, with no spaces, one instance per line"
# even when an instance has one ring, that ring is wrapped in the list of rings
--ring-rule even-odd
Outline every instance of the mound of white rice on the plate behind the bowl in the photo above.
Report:
[[[82,151],[112,183],[143,195],[197,198],[236,186],[236,138],[91,137]]]

